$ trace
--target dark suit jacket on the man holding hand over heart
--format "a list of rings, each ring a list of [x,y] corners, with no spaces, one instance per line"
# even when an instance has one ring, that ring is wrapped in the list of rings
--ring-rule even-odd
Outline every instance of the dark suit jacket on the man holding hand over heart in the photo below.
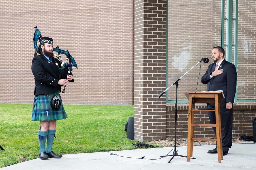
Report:
[[[210,79],[210,73],[215,71],[215,63],[208,66],[208,69],[201,77],[201,82],[207,84],[207,91],[223,90],[225,99],[220,101],[220,106],[226,106],[226,102],[234,103],[237,86],[237,71],[234,64],[222,61],[219,70],[223,73]]]

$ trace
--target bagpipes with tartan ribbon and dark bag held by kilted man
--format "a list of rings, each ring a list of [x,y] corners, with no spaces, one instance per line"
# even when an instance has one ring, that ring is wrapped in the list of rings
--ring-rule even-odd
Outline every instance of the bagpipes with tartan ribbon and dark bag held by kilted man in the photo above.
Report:
[[[36,53],[38,54],[41,54],[41,50],[40,48],[37,46],[37,41],[39,41],[39,43],[41,44],[41,41],[42,41],[42,35],[41,35],[41,31],[39,31],[37,29],[37,26],[34,27],[36,30],[35,30],[35,33],[34,33],[34,38],[33,38],[33,43],[34,43],[34,49],[35,49],[35,54],[34,54],[34,57],[36,56]],[[60,72],[61,72],[61,77],[63,79],[67,79],[67,75],[70,75],[71,74],[71,71],[72,71],[72,66],[75,66],[77,69],[77,63],[76,61],[74,60],[74,58],[70,55],[69,51],[68,50],[62,50],[62,49],[59,49],[59,46],[56,46],[56,48],[53,48],[53,51],[56,51],[58,53],[58,56],[52,52],[55,57],[60,61],[61,65],[59,66],[58,62],[56,62],[55,64],[58,66]],[[66,62],[63,62],[61,60],[61,55],[60,54],[65,54],[66,55]],[[66,88],[66,85],[64,86],[63,88],[63,91],[62,93],[65,93],[65,88]]]

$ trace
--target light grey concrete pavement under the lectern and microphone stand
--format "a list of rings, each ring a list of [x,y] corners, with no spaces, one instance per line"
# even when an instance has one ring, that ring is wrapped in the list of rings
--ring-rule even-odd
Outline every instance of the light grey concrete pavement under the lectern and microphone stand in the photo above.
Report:
[[[1,168],[1,170],[27,170],[27,169],[197,169],[197,170],[218,170],[223,169],[256,169],[256,143],[241,142],[233,143],[229,154],[223,156],[221,163],[218,163],[217,154],[209,154],[208,150],[215,148],[215,145],[194,146],[193,157],[187,162],[187,158],[175,156],[168,163],[172,156],[160,158],[161,155],[172,155],[173,147],[135,149],[124,151],[97,152],[97,153],[78,153],[62,155],[60,159],[34,159],[21,162],[15,165]],[[187,147],[176,147],[179,155],[187,155]],[[119,155],[119,156],[118,156]],[[141,157],[145,156],[143,159]]]

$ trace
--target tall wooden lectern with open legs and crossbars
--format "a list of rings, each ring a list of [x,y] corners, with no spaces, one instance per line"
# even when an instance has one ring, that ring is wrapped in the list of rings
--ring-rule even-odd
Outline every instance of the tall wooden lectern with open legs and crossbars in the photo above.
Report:
[[[220,122],[220,100],[223,100],[222,92],[199,91],[199,92],[185,92],[188,98],[188,152],[187,162],[190,157],[193,157],[193,142],[196,141],[216,141],[218,150],[218,160],[221,163],[223,160],[222,153],[222,139],[221,139],[221,122]],[[215,109],[195,109],[195,103],[215,103]],[[195,111],[215,111],[216,124],[195,124]],[[216,127],[216,139],[194,138],[194,127]]]

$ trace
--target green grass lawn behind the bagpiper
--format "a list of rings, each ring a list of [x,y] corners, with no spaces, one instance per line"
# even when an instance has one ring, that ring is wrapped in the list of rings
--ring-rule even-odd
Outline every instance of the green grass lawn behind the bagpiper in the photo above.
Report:
[[[0,168],[16,161],[38,158],[37,130],[31,121],[32,104],[0,104]],[[68,118],[57,121],[53,151],[56,154],[134,149],[124,131],[134,106],[65,105]],[[81,150],[81,151],[79,151]],[[83,152],[82,152],[83,151]]]

